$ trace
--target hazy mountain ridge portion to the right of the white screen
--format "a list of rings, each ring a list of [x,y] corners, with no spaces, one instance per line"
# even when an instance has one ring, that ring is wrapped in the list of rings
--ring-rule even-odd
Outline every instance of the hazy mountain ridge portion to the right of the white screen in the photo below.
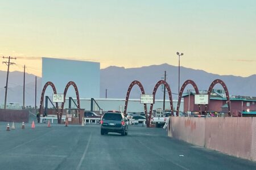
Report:
[[[125,98],[127,88],[133,80],[139,80],[147,94],[152,94],[153,88],[158,80],[163,79],[164,71],[167,72],[167,83],[171,87],[173,99],[177,99],[178,93],[178,67],[167,63],[162,65],[144,66],[140,68],[125,69],[124,67],[110,66],[101,70],[101,96],[105,96],[108,90],[108,97]],[[203,70],[180,67],[180,87],[185,80],[191,79],[199,90],[208,90],[215,79],[221,79],[228,87],[230,95],[256,96],[256,74],[243,78],[234,75],[218,75],[207,73]],[[115,83],[114,83],[115,82]],[[160,88],[160,87],[159,87]],[[216,85],[214,88],[222,87]],[[193,89],[191,85],[185,88],[184,92]],[[138,98],[141,91],[134,87],[131,91],[131,98]],[[156,92],[156,99],[162,99],[163,92],[159,89]],[[168,97],[168,95],[167,95]]]

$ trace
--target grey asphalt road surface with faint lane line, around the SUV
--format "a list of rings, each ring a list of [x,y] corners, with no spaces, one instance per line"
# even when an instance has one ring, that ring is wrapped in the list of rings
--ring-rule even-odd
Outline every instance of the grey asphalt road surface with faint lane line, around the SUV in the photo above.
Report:
[[[99,125],[0,122],[0,169],[256,169],[256,163],[167,137],[160,128],[129,126],[125,137]]]

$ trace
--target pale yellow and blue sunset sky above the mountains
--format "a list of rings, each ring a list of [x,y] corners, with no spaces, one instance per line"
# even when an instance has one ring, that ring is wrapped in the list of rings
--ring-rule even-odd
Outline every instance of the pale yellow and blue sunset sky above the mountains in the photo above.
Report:
[[[168,63],[256,74],[256,1],[0,1],[0,56],[41,76],[41,57],[125,68]],[[1,58],[2,61],[7,61]],[[0,64],[0,70],[7,66]]]

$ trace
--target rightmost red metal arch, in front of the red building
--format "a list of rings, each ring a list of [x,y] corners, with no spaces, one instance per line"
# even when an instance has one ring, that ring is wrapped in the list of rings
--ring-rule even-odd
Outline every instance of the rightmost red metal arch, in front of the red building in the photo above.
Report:
[[[212,89],[213,87],[216,85],[216,84],[221,84],[221,86],[224,88],[225,90],[225,94],[226,94],[226,102],[228,104],[228,108],[229,108],[229,116],[232,116],[232,113],[231,113],[231,107],[230,107],[230,99],[229,99],[229,91],[228,91],[228,88],[226,87],[226,84],[220,80],[220,79],[216,79],[212,82],[212,84],[210,84],[210,87],[209,87],[209,90],[208,90],[208,101],[209,101],[209,104],[210,104],[210,92],[212,92]],[[208,105],[209,105],[208,104]],[[205,113],[208,112],[208,105],[205,105]]]

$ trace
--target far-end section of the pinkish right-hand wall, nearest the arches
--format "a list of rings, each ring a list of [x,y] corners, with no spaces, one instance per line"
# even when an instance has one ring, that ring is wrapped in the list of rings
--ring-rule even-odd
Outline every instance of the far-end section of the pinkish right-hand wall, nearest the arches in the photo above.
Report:
[[[171,117],[168,134],[195,145],[204,146],[205,120],[197,117]]]

